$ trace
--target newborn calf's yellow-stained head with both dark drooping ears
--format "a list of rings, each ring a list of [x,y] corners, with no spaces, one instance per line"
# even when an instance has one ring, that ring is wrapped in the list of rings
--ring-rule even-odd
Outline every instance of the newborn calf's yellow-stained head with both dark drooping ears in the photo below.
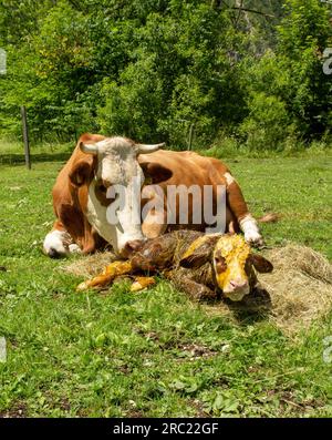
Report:
[[[253,270],[268,273],[273,266],[264,257],[252,254],[240,235],[206,235],[193,243],[180,260],[183,267],[197,267],[209,262],[217,286],[224,295],[239,301],[250,293],[257,278]]]

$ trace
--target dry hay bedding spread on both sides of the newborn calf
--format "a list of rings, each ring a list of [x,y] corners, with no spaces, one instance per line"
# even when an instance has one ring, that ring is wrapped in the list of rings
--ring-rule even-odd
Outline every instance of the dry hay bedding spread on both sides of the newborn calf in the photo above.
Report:
[[[272,320],[284,332],[293,334],[310,326],[332,308],[332,265],[313,249],[288,244],[264,250],[273,264],[271,274],[258,274],[262,289],[241,303],[206,305],[208,313],[246,319],[248,313]],[[111,252],[100,253],[63,267],[84,278],[97,275],[114,262]]]

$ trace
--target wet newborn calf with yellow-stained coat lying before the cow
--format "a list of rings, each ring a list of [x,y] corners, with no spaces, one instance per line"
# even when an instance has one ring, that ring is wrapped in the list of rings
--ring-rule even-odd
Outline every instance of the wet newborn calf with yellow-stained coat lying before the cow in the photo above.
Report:
[[[77,290],[101,287],[126,274],[163,274],[195,299],[225,297],[239,301],[257,284],[255,269],[272,270],[272,264],[252,254],[240,235],[204,235],[194,231],[176,231],[144,242],[128,260],[115,262],[104,273],[79,285]],[[135,290],[152,284],[139,277]]]

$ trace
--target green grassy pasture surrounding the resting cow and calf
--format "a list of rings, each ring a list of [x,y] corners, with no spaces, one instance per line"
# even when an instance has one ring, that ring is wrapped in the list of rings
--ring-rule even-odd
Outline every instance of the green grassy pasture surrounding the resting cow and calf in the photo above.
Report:
[[[322,357],[332,315],[287,337],[252,316],[235,324],[163,280],[139,294],[126,284],[76,294],[80,279],[41,253],[65,156],[41,149],[28,172],[0,145],[1,416],[332,416]],[[227,162],[253,214],[282,215],[263,225],[269,245],[293,241],[332,259],[331,152]]]

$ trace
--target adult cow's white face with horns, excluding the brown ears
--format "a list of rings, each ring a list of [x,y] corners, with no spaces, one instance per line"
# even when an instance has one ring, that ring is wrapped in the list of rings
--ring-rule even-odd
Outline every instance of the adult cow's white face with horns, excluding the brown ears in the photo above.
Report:
[[[144,239],[139,203],[144,173],[137,155],[152,153],[162,146],[164,144],[135,144],[125,137],[108,137],[96,144],[80,145],[84,153],[97,156],[95,177],[89,186],[87,219],[116,253],[122,253],[131,242]],[[101,188],[107,203],[98,197]],[[108,214],[113,207],[115,216],[111,216],[110,221]]]

